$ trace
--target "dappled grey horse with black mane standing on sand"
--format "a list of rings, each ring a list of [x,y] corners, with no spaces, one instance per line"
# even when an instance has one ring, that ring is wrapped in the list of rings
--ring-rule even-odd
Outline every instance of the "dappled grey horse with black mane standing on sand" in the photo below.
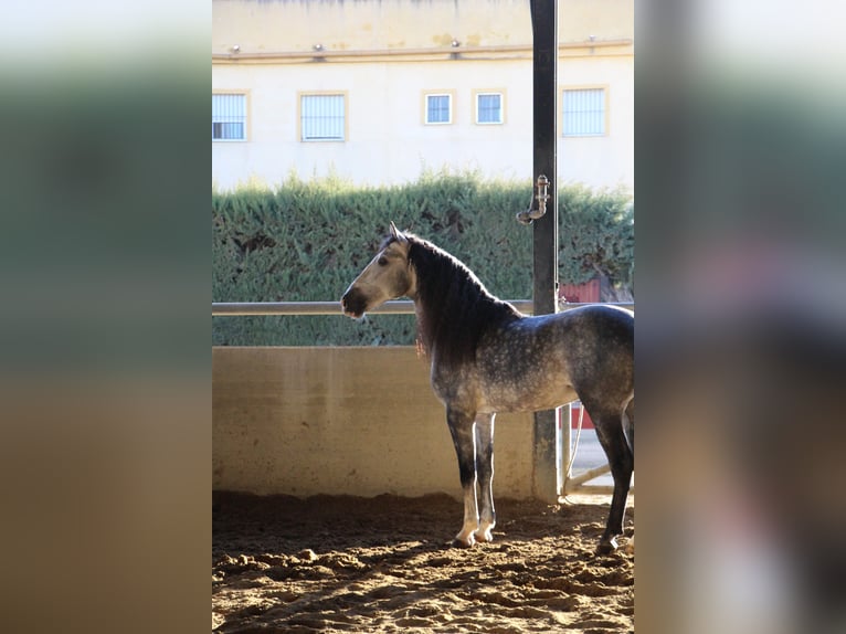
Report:
[[[601,304],[524,315],[456,257],[392,222],[341,308],[358,319],[403,296],[414,302],[417,344],[431,360],[431,384],[445,405],[458,457],[464,522],[453,543],[494,539],[496,413],[550,410],[578,399],[614,478],[596,552],[616,550],[634,471],[634,315]]]

